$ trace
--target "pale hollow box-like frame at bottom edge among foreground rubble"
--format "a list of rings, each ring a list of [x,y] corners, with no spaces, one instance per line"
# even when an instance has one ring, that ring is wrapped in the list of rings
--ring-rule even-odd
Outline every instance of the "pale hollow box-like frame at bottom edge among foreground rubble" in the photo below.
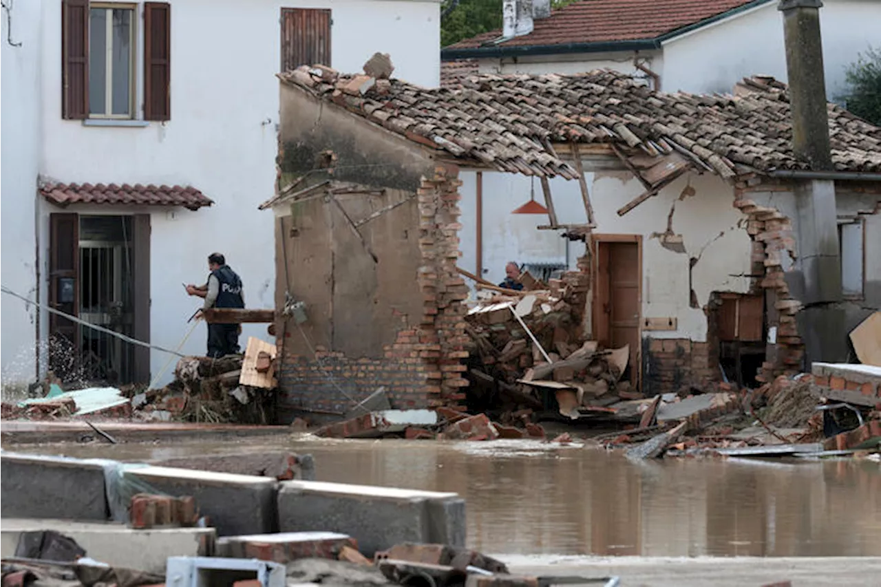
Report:
[[[251,583],[257,581],[258,583]],[[167,587],[214,587],[248,582],[285,587],[285,566],[270,561],[172,556],[166,566]]]

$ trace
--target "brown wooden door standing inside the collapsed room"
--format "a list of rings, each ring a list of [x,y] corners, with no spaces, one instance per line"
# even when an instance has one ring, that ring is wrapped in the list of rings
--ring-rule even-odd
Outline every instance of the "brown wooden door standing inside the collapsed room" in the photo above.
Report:
[[[640,374],[640,242],[596,242],[596,339],[606,348],[630,345],[629,379]],[[627,375],[627,372],[626,372]]]

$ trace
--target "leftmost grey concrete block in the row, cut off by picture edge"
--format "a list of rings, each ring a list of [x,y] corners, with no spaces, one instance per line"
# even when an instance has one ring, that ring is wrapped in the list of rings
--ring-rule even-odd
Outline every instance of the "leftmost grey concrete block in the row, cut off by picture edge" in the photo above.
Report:
[[[0,518],[108,517],[100,461],[0,452]]]

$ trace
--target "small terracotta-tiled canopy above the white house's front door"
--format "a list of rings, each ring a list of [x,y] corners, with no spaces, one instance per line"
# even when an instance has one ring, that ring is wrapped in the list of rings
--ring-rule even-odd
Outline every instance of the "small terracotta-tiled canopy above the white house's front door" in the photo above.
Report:
[[[135,204],[149,206],[182,206],[197,210],[213,204],[211,199],[195,188],[180,185],[105,185],[98,183],[47,183],[40,193],[49,202],[68,204]]]

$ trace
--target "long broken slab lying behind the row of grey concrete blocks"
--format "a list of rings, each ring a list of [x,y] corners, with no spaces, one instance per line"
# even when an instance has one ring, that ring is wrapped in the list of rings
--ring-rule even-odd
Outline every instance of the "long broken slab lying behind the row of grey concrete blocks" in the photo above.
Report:
[[[202,455],[199,457],[164,458],[150,461],[160,467],[176,467],[197,471],[272,477],[279,481],[315,479],[315,460],[312,455],[297,455],[285,450],[274,452]]]

